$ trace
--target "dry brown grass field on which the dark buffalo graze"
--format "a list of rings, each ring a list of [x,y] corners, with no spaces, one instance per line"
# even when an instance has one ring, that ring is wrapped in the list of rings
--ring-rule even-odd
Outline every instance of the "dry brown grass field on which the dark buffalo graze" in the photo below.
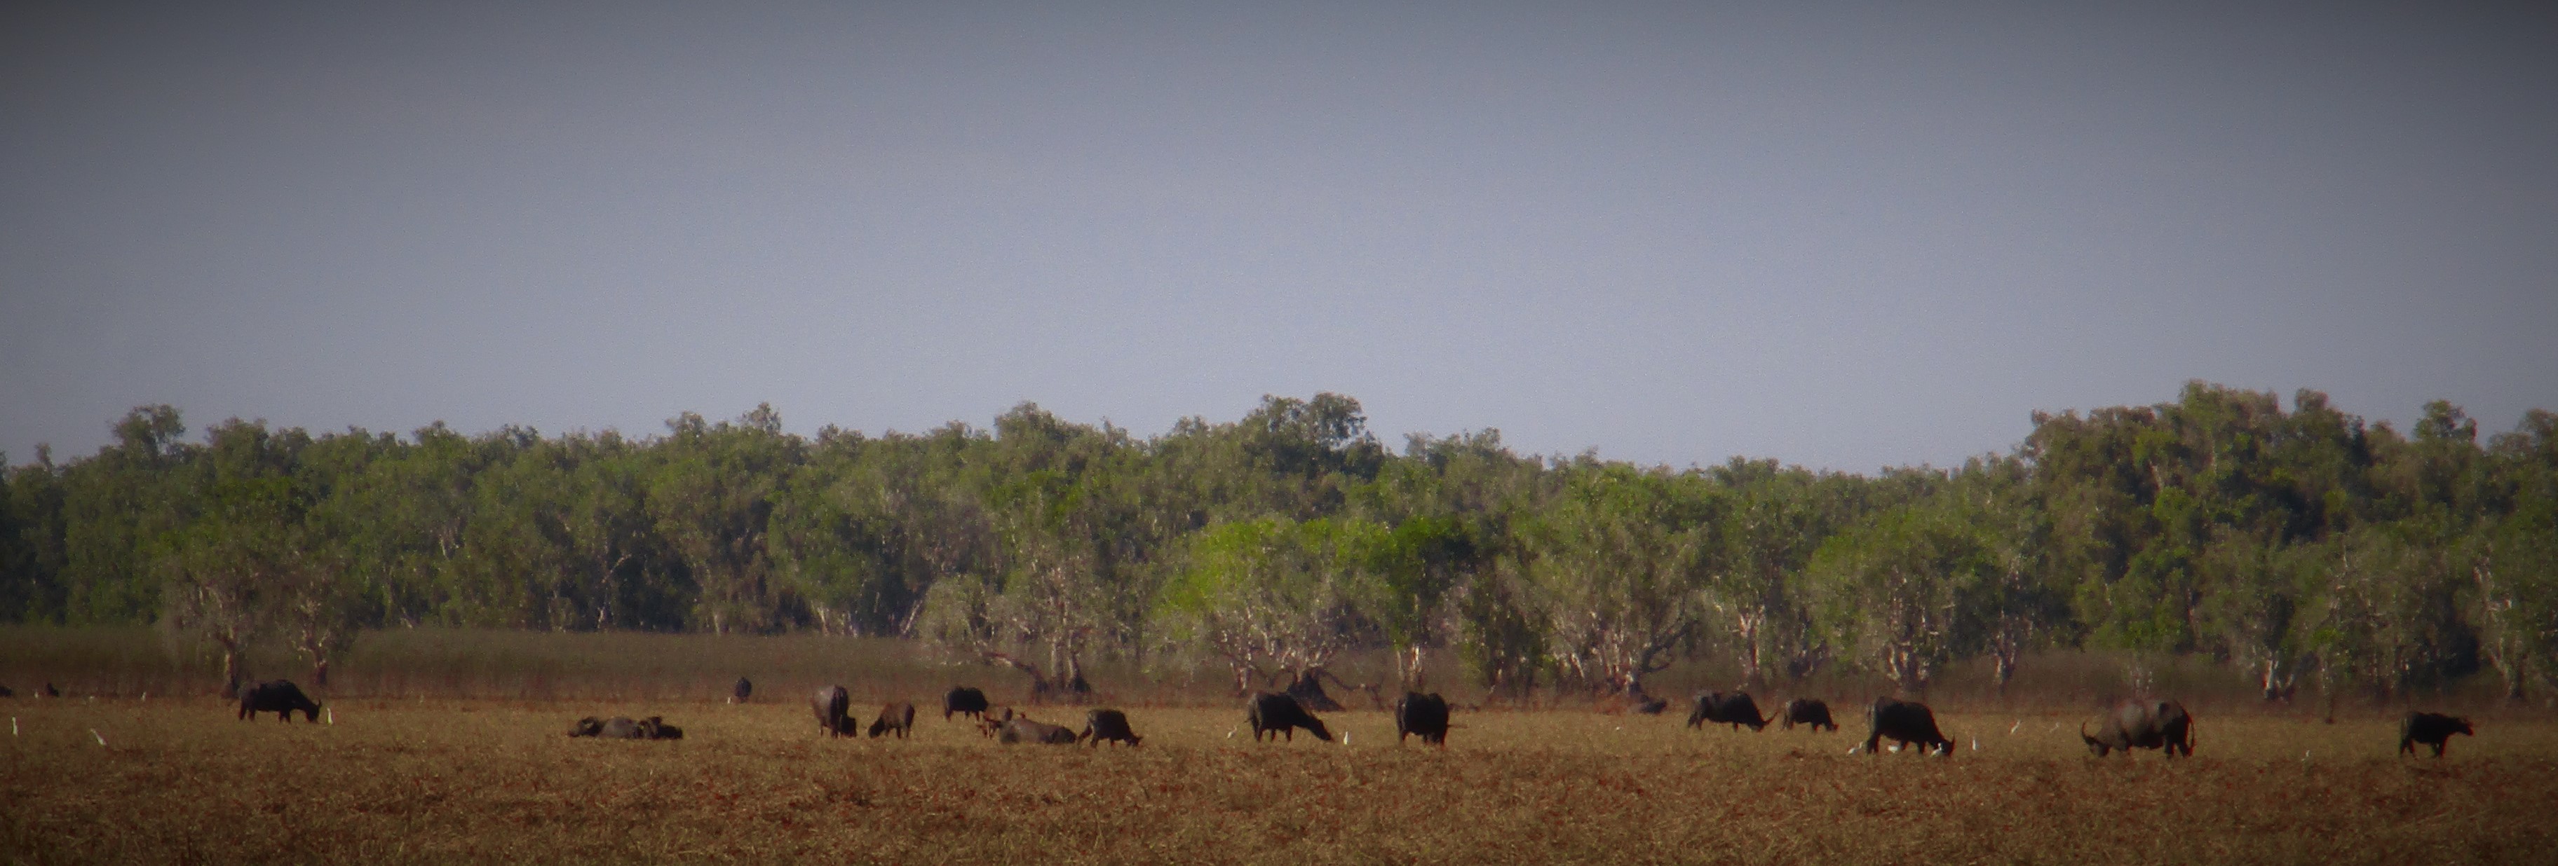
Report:
[[[806,703],[343,697],[333,725],[210,697],[0,700],[10,863],[2550,863],[2558,725],[2394,756],[2379,718],[2200,715],[2197,756],[2098,761],[2077,715],[1944,715],[1952,759],[1862,731],[1458,713],[1450,746],[1330,713],[1131,708],[1143,748],[998,746],[939,713],[829,741]],[[926,703],[926,695],[913,695]],[[875,705],[857,705],[875,713]],[[665,715],[683,741],[565,738]],[[1036,715],[1079,725],[1079,713]],[[1842,713],[1842,720],[1847,720]],[[1862,728],[1862,720],[1847,720]],[[100,743],[102,741],[102,743]],[[1977,741],[1977,748],[1975,748]]]

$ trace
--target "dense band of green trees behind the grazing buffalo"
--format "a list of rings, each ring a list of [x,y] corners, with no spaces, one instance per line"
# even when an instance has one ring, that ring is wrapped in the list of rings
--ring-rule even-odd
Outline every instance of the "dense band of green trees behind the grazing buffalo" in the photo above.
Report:
[[[2287,695],[2494,669],[2558,687],[2558,414],[2479,442],[2300,391],[2036,414],[2011,455],[1878,475],[1640,467],[1496,432],[1389,450],[1358,401],[1264,399],[1138,439],[1023,404],[993,429],[785,434],[770,406],[660,437],[312,437],[143,406],[115,444],[5,467],[0,618],[159,623],[325,682],[361,628],[829,631],[936,641],[1087,690],[1092,659],[1310,685],[1640,692],[1855,667],[1924,690],[2046,646],[2208,654]],[[5,460],[0,460],[5,465]]]

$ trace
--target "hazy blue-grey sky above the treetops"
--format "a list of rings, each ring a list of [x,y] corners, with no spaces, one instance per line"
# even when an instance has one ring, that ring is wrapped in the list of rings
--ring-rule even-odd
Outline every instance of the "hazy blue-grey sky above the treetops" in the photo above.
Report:
[[[1875,470],[2558,409],[2548,3],[13,3],[0,450],[1156,434]]]

